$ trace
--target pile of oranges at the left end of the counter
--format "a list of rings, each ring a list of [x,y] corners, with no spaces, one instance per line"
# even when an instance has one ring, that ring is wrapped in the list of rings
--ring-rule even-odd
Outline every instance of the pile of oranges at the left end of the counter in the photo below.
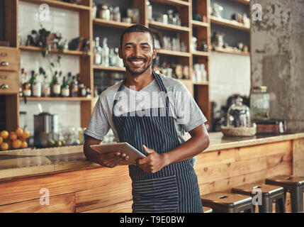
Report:
[[[0,132],[0,150],[15,150],[28,148],[30,132],[17,128],[15,131]]]

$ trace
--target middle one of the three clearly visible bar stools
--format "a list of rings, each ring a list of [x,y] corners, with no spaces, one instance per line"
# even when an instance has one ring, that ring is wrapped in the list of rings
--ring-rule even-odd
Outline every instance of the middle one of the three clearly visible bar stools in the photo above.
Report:
[[[272,203],[276,201],[276,212],[285,213],[285,197],[283,187],[267,184],[243,184],[232,188],[232,193],[254,197],[254,189],[261,190],[259,213],[272,213]],[[252,202],[253,203],[253,202]]]

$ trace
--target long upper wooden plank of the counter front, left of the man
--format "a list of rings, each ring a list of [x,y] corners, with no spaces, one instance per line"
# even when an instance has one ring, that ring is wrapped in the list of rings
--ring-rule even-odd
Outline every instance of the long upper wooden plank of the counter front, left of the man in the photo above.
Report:
[[[38,177],[26,177],[0,184],[0,205],[40,198],[40,189],[50,190],[50,196],[94,189],[113,182],[130,180],[128,166],[92,168]],[[9,190],[7,190],[9,189]]]

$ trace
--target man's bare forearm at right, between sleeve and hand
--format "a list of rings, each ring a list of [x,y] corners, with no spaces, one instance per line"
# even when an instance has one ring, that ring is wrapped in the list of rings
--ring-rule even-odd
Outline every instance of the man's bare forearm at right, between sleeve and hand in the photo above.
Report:
[[[209,146],[209,136],[193,136],[174,150],[164,153],[166,165],[188,160],[206,150]]]

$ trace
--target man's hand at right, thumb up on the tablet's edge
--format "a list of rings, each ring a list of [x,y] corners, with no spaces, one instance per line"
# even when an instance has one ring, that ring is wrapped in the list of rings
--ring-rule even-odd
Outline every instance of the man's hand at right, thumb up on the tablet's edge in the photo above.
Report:
[[[145,145],[142,145],[142,148],[149,154],[147,157],[139,159],[136,162],[137,167],[140,167],[142,171],[154,173],[162,170],[162,168],[166,166],[164,155],[157,153],[153,149],[147,148]]]

